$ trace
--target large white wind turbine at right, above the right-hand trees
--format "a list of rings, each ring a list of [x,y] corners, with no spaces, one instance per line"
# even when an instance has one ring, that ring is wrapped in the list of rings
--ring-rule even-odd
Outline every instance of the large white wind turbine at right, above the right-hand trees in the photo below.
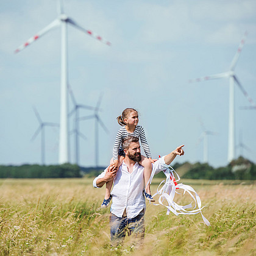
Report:
[[[244,34],[239,46],[238,50],[236,51],[235,56],[231,62],[229,67],[229,71],[225,73],[213,74],[211,76],[199,77],[194,80],[189,80],[189,82],[202,82],[204,80],[212,80],[212,79],[219,79],[219,78],[229,78],[229,140],[228,140],[228,162],[231,162],[235,159],[235,82],[238,87],[243,92],[244,96],[248,99],[248,101],[256,107],[252,99],[246,93],[246,90],[242,87],[241,83],[239,82],[237,76],[235,75],[235,66],[240,56],[240,53],[244,46],[244,40],[247,36],[247,32]]]

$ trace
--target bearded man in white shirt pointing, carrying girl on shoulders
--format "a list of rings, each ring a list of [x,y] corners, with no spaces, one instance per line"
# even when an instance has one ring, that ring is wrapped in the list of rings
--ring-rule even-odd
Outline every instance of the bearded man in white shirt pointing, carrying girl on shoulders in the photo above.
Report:
[[[126,157],[118,171],[105,169],[93,180],[93,187],[101,188],[108,180],[115,179],[112,190],[112,206],[110,208],[111,240],[123,240],[134,233],[138,238],[144,237],[144,212],[146,210],[143,190],[145,187],[140,162],[140,143],[137,137],[129,136],[123,140],[122,146]],[[168,168],[176,155],[183,155],[184,145],[152,164],[152,173],[157,174]]]

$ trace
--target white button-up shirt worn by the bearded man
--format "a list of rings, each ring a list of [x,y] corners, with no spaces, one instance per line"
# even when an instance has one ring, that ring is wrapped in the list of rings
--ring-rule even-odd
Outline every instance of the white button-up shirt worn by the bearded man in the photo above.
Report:
[[[168,168],[165,163],[165,157],[161,157],[152,164],[152,173],[157,174]],[[99,174],[93,180],[93,187],[97,188],[96,181],[105,176],[104,172]],[[144,167],[139,163],[135,163],[133,171],[130,173],[126,163],[122,163],[116,172],[116,177],[113,184],[112,205],[110,212],[121,218],[124,210],[126,210],[127,218],[136,217],[143,208],[146,208],[145,198],[143,196],[144,183]]]

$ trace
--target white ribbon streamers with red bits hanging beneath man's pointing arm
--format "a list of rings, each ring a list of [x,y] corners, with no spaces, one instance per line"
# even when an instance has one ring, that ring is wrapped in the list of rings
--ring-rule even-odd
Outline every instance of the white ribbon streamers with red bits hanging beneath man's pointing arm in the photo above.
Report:
[[[177,175],[177,179],[174,179],[174,172]],[[201,210],[205,206],[201,207],[201,199],[200,199],[199,195],[196,193],[196,191],[194,191],[194,189],[188,185],[185,185],[182,183],[178,184],[177,181],[180,180],[180,177],[171,166],[169,166],[168,169],[163,171],[163,173],[166,176],[166,180],[163,180],[159,184],[159,186],[157,188],[157,192],[153,195],[153,197],[157,196],[157,194],[160,195],[159,199],[158,199],[159,204],[154,204],[154,205],[165,206],[167,208],[166,215],[169,215],[170,212],[174,213],[176,216],[178,216],[180,214],[195,215],[197,213],[201,213],[201,215],[202,215]],[[151,177],[149,179],[150,183],[154,177],[154,174],[155,173],[152,172]],[[162,186],[162,184],[163,184],[163,186]],[[162,186],[162,188],[160,188],[161,186]],[[185,194],[186,192],[188,194],[190,194],[190,196],[192,197],[192,199],[195,203],[193,210],[186,210],[188,208],[192,208],[193,201],[191,202],[191,204],[188,204],[188,205],[179,205],[176,202],[174,202],[174,196],[175,196],[175,193],[177,193],[176,189],[178,189],[178,188],[184,190],[183,194]],[[177,194],[179,194],[179,193],[177,193]],[[165,200],[168,202],[168,205],[163,204],[163,201],[165,201]],[[202,215],[202,219],[207,226],[210,226],[210,222],[204,217],[204,215]]]

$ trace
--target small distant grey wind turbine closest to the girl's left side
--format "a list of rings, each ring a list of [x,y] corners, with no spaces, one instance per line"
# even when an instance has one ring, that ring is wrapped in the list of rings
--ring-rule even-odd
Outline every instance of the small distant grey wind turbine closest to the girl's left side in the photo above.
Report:
[[[82,118],[79,118],[80,120],[87,120],[87,119],[95,119],[95,165],[96,167],[99,166],[99,124],[101,125],[102,129],[105,130],[106,133],[108,133],[108,129],[105,126],[105,124],[101,121],[101,118],[99,118],[99,105],[101,105],[102,100],[102,94],[99,96],[99,100],[96,104],[96,107],[94,108],[94,114],[91,116],[84,116]]]

